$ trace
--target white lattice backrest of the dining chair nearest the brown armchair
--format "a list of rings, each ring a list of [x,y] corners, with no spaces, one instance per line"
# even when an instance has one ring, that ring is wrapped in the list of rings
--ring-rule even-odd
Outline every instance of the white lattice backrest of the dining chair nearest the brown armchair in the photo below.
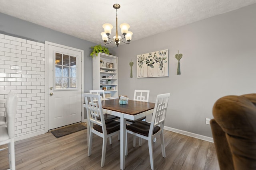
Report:
[[[154,107],[154,112],[151,119],[149,134],[153,134],[154,127],[161,125],[161,128],[164,128],[164,120],[166,117],[166,111],[168,107],[168,102],[170,98],[170,93],[158,94],[156,96],[156,104]]]

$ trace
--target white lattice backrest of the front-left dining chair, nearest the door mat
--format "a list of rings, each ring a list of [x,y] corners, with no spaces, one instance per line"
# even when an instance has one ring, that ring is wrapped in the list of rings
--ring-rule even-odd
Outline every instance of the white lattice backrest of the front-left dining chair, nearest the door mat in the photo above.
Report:
[[[106,134],[106,124],[102,112],[100,94],[84,93],[84,102],[87,111],[87,121],[89,128],[92,129],[90,125],[91,123],[95,123],[100,125],[102,127],[102,132]],[[97,119],[97,117],[100,117],[100,120]]]

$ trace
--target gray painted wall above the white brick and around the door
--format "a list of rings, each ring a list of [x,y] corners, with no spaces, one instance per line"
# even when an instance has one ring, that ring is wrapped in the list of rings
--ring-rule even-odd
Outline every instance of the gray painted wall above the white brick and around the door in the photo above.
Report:
[[[85,41],[52,29],[0,13],[0,33],[44,43],[50,41],[84,50],[84,92],[92,89],[92,58],[90,47],[95,43]]]

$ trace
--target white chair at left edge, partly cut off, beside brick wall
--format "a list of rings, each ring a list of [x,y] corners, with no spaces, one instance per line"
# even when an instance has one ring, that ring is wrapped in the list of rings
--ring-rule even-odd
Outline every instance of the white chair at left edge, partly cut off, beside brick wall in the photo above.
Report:
[[[8,144],[9,167],[15,170],[15,149],[14,149],[14,123],[18,98],[12,92],[6,100],[6,126],[0,126],[0,145]],[[7,148],[0,149],[4,150]]]

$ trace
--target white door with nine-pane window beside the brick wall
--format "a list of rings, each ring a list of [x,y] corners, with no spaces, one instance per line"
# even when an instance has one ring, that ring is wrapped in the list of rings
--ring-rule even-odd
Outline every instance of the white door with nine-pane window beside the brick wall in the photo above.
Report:
[[[82,121],[82,54],[48,44],[48,130]]]

